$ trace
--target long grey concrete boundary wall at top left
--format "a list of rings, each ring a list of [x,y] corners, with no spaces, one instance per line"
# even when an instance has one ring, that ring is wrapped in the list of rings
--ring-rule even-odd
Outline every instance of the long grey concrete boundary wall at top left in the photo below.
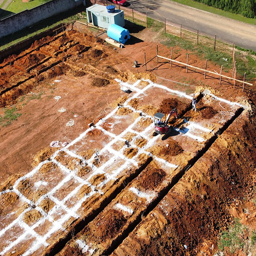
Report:
[[[41,20],[60,12],[73,9],[83,3],[83,0],[52,0],[31,10],[17,13],[4,20],[0,20],[0,38],[31,26]]]

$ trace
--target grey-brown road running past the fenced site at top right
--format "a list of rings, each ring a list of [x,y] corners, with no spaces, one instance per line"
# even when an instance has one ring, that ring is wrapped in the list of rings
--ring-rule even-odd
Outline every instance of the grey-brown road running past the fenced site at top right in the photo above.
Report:
[[[169,21],[190,31],[256,51],[256,26],[228,19],[169,0],[129,0],[134,10],[156,20]]]

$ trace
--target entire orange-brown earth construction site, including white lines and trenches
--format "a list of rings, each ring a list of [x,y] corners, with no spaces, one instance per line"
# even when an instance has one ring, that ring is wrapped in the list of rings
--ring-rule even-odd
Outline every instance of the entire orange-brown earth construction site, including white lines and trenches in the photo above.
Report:
[[[149,29],[104,37],[74,23],[0,64],[0,116],[21,114],[0,128],[0,255],[254,255],[255,95],[160,58],[145,71],[157,44],[171,56]],[[235,218],[244,244],[220,249]]]

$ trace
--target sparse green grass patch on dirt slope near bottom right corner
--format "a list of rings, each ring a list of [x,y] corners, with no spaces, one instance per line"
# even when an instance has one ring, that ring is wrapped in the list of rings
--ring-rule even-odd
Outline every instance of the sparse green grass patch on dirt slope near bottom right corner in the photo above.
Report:
[[[224,247],[228,247],[231,253],[241,249],[245,244],[243,239],[245,229],[246,227],[239,222],[239,219],[235,218],[235,224],[230,226],[228,230],[221,232],[218,248],[224,250]]]

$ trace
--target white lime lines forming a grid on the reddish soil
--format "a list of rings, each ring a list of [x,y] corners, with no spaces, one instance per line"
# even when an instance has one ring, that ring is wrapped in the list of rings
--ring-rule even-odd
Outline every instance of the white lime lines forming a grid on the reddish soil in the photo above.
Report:
[[[11,224],[9,224],[7,227],[5,227],[3,230],[0,230],[0,237],[3,236],[7,230],[10,230],[12,227],[15,227],[15,225],[19,225],[21,228],[23,228],[24,232],[21,236],[19,236],[15,241],[12,241],[8,246],[6,246],[5,248],[3,248],[3,250],[0,252],[1,255],[3,255],[4,253],[10,251],[13,247],[15,247],[15,245],[19,244],[21,241],[27,239],[28,236],[32,236],[35,237],[35,241],[32,242],[32,244],[29,246],[29,249],[23,253],[23,256],[28,256],[31,255],[33,252],[35,252],[36,250],[38,250],[41,246],[47,247],[49,246],[47,239],[55,232],[57,232],[58,230],[64,230],[63,228],[63,224],[68,221],[71,217],[77,219],[79,218],[79,214],[77,214],[77,211],[79,210],[79,208],[81,207],[82,203],[84,201],[86,201],[88,198],[90,198],[91,196],[93,196],[96,193],[99,193],[100,195],[103,194],[103,192],[101,191],[101,188],[103,185],[105,185],[106,183],[108,183],[110,180],[115,180],[116,176],[122,172],[123,170],[125,170],[126,168],[128,168],[129,166],[138,166],[138,162],[135,160],[136,157],[142,153],[144,154],[148,154],[151,157],[154,158],[154,160],[158,161],[161,165],[165,165],[166,167],[169,168],[177,168],[176,165],[167,162],[164,159],[161,159],[157,156],[152,155],[151,153],[149,153],[148,151],[146,151],[145,149],[151,147],[152,145],[154,145],[155,140],[157,140],[157,137],[153,137],[150,138],[148,137],[146,134],[150,131],[152,131],[154,129],[154,124],[153,122],[151,123],[151,125],[149,125],[147,128],[144,129],[144,131],[142,132],[138,132],[135,131],[133,129],[134,125],[136,125],[142,118],[150,118],[153,119],[151,116],[148,116],[147,114],[143,113],[142,111],[137,111],[134,108],[132,108],[130,105],[128,105],[128,103],[134,99],[137,98],[138,96],[140,96],[141,94],[145,95],[145,91],[148,90],[151,87],[157,87],[163,90],[168,91],[169,93],[175,94],[177,96],[180,97],[185,97],[187,99],[192,99],[191,96],[186,95],[186,93],[183,92],[179,92],[176,90],[171,90],[168,87],[165,87],[163,85],[159,85],[159,84],[155,84],[153,82],[151,82],[150,80],[144,80],[144,81],[148,81],[149,84],[144,87],[143,89],[139,89],[137,88],[137,85],[140,83],[141,80],[136,81],[134,84],[127,84],[127,83],[123,83],[122,81],[116,79],[117,81],[119,81],[121,86],[126,86],[131,88],[133,91],[135,91],[136,93],[134,93],[134,96],[130,97],[129,99],[126,100],[126,102],[123,104],[124,107],[131,109],[133,112],[135,113],[142,113],[141,116],[139,116],[131,125],[128,126],[128,128],[126,128],[124,131],[121,132],[121,134],[116,135],[113,134],[109,131],[106,131],[104,128],[102,128],[102,124],[111,116],[114,116],[116,114],[116,111],[118,110],[118,107],[115,108],[111,113],[109,113],[105,118],[99,120],[99,122],[97,122],[96,127],[95,128],[88,128],[86,131],[84,131],[84,133],[82,133],[79,137],[77,137],[75,140],[73,140],[70,144],[68,144],[66,147],[62,148],[61,150],[56,151],[50,160],[41,162],[35,169],[33,169],[31,172],[29,172],[27,175],[24,175],[23,177],[20,177],[14,184],[13,189],[8,189],[6,191],[0,192],[0,195],[3,193],[7,193],[7,192],[15,192],[21,200],[25,201],[26,203],[29,204],[29,207],[27,209],[25,209],[19,216],[17,219],[15,219],[14,221],[12,221]],[[193,124],[190,123],[189,125],[191,125],[191,127],[194,125],[195,128],[200,129],[201,131],[204,132],[210,132],[209,129],[204,128],[200,125],[197,124]],[[93,156],[89,159],[89,160],[85,160],[83,157],[81,157],[80,155],[76,154],[73,151],[70,151],[68,148],[70,148],[70,146],[75,145],[76,143],[78,143],[81,139],[83,139],[88,131],[91,131],[92,129],[99,129],[100,131],[102,131],[104,134],[108,135],[109,137],[112,138],[112,140],[105,145],[104,148],[102,148],[99,152],[93,154]],[[126,145],[124,145],[119,151],[116,151],[115,149],[113,149],[111,146],[116,143],[116,142],[124,142],[125,139],[123,138],[123,136],[127,133],[127,132],[131,132],[136,134],[136,136],[132,139],[131,141],[131,146],[134,148],[137,148],[137,154],[132,157],[131,159],[126,157],[123,154],[123,151],[125,150],[125,148],[127,148]],[[186,134],[187,136],[189,136],[189,134]],[[142,148],[138,148],[135,144],[134,141],[136,140],[136,138],[138,137],[143,137],[144,139],[146,139],[148,141],[148,143],[143,146]],[[193,138],[193,136],[190,136],[192,139],[198,139],[198,138]],[[200,141],[200,140],[199,140]],[[201,140],[202,141],[202,140]],[[92,172],[90,174],[89,177],[86,178],[86,180],[82,179],[81,177],[77,176],[75,172],[73,172],[72,170],[68,169],[66,166],[64,166],[62,163],[60,163],[59,161],[55,160],[55,157],[58,155],[58,153],[60,153],[61,151],[64,151],[66,154],[70,155],[71,157],[76,157],[79,160],[81,160],[81,165],[82,166],[90,166],[92,169]],[[105,162],[102,166],[100,166],[99,168],[96,167],[95,165],[93,165],[93,160],[96,157],[96,154],[100,155],[100,154],[104,154],[105,152],[109,152],[111,154],[113,154],[113,157],[111,157],[107,162]],[[104,172],[104,169],[108,166],[111,166],[111,164],[118,159],[122,159],[125,161],[125,163],[120,166],[119,168],[117,168],[116,170],[114,170],[111,174]],[[32,177],[33,175],[35,175],[38,170],[46,163],[55,163],[59,169],[61,169],[61,172],[63,172],[66,176],[64,177],[63,180],[61,180],[60,183],[58,183],[52,190],[50,190],[47,194],[41,196],[41,198],[38,199],[38,201],[34,204],[32,201],[30,201],[28,198],[26,198],[18,189],[17,189],[17,185],[20,183],[20,181],[25,180],[29,177]],[[96,186],[93,186],[93,184],[91,184],[89,182],[89,180],[98,174],[104,174],[105,175],[105,180],[103,180],[101,183],[99,183]],[[69,182],[70,180],[76,180],[76,182],[78,183],[78,185],[76,186],[75,189],[73,189],[73,191],[71,191],[68,195],[66,195],[66,197],[64,199],[62,199],[61,201],[58,200],[58,198],[56,198],[55,196],[53,196],[55,194],[55,192],[60,189],[65,183]],[[73,207],[69,208],[67,206],[65,206],[65,203],[72,198],[73,196],[76,195],[77,192],[79,192],[79,189],[81,189],[81,187],[83,185],[87,185],[90,186],[90,193],[86,194],[83,196],[83,198],[81,198],[80,200],[76,201],[76,203],[74,204]],[[143,193],[140,192],[139,190],[134,190],[134,195],[138,195],[141,196]],[[145,193],[144,193],[145,194]],[[143,194],[143,195],[144,195]],[[145,195],[146,197],[147,195]],[[45,212],[41,207],[39,207],[39,204],[41,203],[42,200],[44,200],[45,198],[49,198],[51,199],[54,203],[55,206],[47,213]],[[124,206],[120,206],[120,207],[124,207]],[[26,212],[28,212],[29,210],[32,209],[36,209],[38,210],[38,212],[41,213],[42,218],[40,218],[35,224],[33,224],[31,227],[26,224],[23,221],[23,216]],[[54,220],[54,218],[52,217],[52,215],[54,215],[56,212],[58,212],[58,210],[63,210],[65,213],[61,216],[60,219],[58,220]],[[130,209],[132,211],[132,209]],[[50,221],[52,223],[52,226],[49,230],[47,230],[47,233],[44,234],[43,236],[39,235],[38,233],[35,232],[35,228],[37,228],[39,225],[43,224],[44,221]]]

